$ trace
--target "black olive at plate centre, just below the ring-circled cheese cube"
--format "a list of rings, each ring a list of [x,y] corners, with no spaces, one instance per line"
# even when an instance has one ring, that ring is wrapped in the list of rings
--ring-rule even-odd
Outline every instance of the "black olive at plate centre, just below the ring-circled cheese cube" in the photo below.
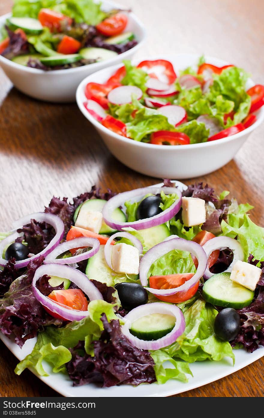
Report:
[[[121,305],[126,311],[131,311],[148,301],[148,292],[138,283],[118,283],[115,288]]]

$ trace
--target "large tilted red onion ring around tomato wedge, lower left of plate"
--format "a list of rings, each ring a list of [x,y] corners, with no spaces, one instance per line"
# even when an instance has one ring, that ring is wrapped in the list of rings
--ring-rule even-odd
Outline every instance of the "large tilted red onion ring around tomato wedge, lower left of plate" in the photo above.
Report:
[[[61,305],[58,305],[55,301],[48,298],[48,296],[44,296],[36,287],[36,283],[39,278],[43,275],[48,276],[57,276],[63,279],[68,279],[73,282],[75,285],[80,288],[83,293],[85,293],[90,301],[101,299],[103,300],[103,296],[101,292],[98,291],[98,288],[88,279],[88,277],[82,273],[80,270],[76,270],[75,268],[69,267],[68,265],[60,265],[60,264],[46,264],[41,265],[35,272],[32,281],[32,291],[38,299],[38,301],[45,306],[45,308],[52,311],[54,314],[60,315],[62,318],[67,319],[68,321],[80,321],[81,319],[85,318],[89,315],[88,311],[78,311],[76,309],[68,309],[64,308]]]

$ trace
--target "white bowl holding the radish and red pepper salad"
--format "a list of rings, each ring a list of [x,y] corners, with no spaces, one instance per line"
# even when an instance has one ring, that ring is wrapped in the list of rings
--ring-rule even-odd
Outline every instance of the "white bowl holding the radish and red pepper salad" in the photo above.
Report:
[[[172,62],[176,73],[187,66],[195,66],[199,56],[194,54],[178,54],[173,56],[158,56],[146,59],[168,59]],[[144,58],[145,59],[145,58]],[[134,61],[136,65],[140,61]],[[228,64],[226,61],[206,57],[206,62],[217,66]],[[98,71],[86,77],[78,86],[76,100],[80,111],[94,125],[103,138],[110,152],[123,164],[139,173],[158,178],[191,178],[204,176],[228,163],[239,148],[244,144],[249,134],[263,121],[264,107],[256,112],[256,122],[236,135],[216,141],[191,145],[153,145],[138,142],[113,133],[98,122],[83,106],[84,89],[87,83],[104,83],[118,69],[113,66]],[[251,79],[247,88],[253,86]]]

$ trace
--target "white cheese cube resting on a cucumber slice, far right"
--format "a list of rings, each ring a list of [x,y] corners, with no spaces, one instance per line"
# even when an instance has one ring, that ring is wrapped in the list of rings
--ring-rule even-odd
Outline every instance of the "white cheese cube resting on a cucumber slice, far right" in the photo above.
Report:
[[[230,278],[250,290],[255,290],[261,275],[261,269],[253,264],[238,260],[232,268]]]

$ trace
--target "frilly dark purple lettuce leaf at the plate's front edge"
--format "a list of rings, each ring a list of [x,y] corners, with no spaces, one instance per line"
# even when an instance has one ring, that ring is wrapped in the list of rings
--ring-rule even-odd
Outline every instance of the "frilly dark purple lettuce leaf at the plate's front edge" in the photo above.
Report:
[[[122,334],[118,320],[108,323],[101,317],[104,331],[99,341],[94,341],[94,357],[81,356],[70,350],[72,359],[66,364],[73,385],[97,383],[101,387],[114,385],[139,385],[156,381],[154,362],[146,350],[134,347]]]

